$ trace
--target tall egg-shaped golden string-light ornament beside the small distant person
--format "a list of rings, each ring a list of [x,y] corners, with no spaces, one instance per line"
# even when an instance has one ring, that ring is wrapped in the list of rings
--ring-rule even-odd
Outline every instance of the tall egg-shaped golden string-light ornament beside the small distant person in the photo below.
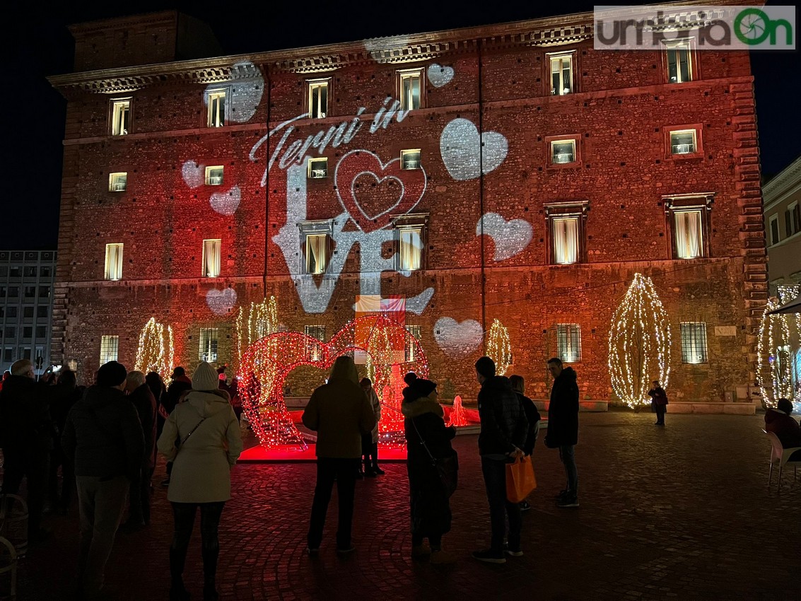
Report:
[[[651,381],[670,379],[670,324],[650,277],[634,274],[612,316],[609,333],[612,389],[631,408],[650,402]]]

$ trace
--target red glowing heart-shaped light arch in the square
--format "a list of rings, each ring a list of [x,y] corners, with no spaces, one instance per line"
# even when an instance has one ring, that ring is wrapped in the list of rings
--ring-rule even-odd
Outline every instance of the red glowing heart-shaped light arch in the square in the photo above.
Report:
[[[407,345],[416,345],[413,353],[416,361],[404,361]],[[387,346],[392,349],[390,353],[381,350]],[[371,349],[380,352],[372,356]],[[383,315],[349,321],[327,343],[300,332],[280,332],[261,338],[245,350],[237,373],[239,394],[248,422],[262,446],[268,449],[290,446],[298,450],[308,447],[284,403],[284,381],[292,369],[311,365],[328,370],[336,357],[357,352],[367,353],[372,361],[376,393],[384,400],[379,425],[381,442],[402,446],[402,378],[409,371],[428,377],[429,365],[417,339],[403,325]],[[379,387],[379,383],[383,385]]]

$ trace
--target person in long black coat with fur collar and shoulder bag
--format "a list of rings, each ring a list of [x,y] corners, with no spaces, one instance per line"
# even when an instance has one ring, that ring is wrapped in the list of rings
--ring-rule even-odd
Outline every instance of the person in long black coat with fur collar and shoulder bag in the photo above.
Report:
[[[403,395],[400,410],[405,417],[412,557],[421,559],[430,553],[431,563],[452,563],[453,555],[442,551],[442,535],[451,527],[450,491],[445,489],[433,458],[455,459],[456,451],[450,442],[456,429],[445,427],[433,381],[417,378],[403,390]],[[424,545],[425,538],[429,539],[429,547]]]

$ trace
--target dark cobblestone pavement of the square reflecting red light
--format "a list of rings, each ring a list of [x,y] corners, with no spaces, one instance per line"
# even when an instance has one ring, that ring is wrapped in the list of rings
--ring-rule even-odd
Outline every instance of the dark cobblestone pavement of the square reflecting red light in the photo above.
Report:
[[[557,452],[537,442],[525,556],[501,566],[470,557],[489,543],[475,435],[455,443],[461,482],[444,541],[458,556],[452,567],[409,558],[404,464],[357,482],[357,549],[344,558],[334,551],[335,494],[316,559],[304,554],[314,464],[236,466],[220,526],[222,599],[801,599],[801,474],[768,492],[763,417],[653,422],[650,413],[582,413],[578,509],[554,506],[564,475]],[[167,599],[166,497],[157,486],[152,525],[117,535],[107,582],[121,601]],[[54,537],[19,564],[20,601],[71,598],[77,510],[49,522]],[[186,574],[193,599],[202,588],[198,530]]]

